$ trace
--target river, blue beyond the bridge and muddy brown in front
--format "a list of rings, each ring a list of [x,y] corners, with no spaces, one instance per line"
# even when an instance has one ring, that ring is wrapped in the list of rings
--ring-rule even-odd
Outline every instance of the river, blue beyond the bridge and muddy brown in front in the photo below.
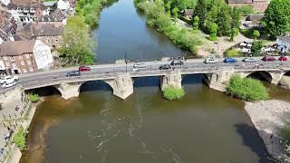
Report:
[[[185,54],[146,26],[131,0],[104,9],[95,34],[102,62],[123,58],[124,48],[135,59]],[[180,101],[162,98],[158,77],[136,79],[124,101],[104,82],[84,83],[68,101],[45,97],[21,163],[271,162],[242,101],[208,89],[202,75],[185,75],[182,85]]]

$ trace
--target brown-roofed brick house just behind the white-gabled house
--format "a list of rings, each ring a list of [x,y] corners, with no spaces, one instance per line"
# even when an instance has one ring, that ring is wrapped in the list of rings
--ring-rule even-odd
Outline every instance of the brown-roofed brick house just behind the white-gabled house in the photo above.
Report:
[[[60,47],[63,43],[63,27],[38,25],[34,29],[34,39],[42,41],[53,49]]]

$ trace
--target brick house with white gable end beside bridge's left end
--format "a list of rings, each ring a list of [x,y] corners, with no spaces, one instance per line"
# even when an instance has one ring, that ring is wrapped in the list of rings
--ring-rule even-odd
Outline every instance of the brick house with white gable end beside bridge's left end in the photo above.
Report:
[[[53,64],[50,47],[41,41],[15,41],[0,45],[6,74],[37,72]]]

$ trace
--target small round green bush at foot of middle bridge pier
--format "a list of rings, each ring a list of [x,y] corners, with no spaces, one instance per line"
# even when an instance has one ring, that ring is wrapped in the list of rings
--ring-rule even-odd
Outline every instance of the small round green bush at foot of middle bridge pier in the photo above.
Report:
[[[169,86],[163,90],[163,96],[169,101],[181,99],[184,94],[184,89],[179,87]]]

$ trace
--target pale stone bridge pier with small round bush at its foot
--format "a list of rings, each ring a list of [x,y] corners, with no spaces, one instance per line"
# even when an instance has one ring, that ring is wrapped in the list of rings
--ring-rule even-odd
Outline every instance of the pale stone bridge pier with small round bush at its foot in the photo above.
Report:
[[[160,88],[162,91],[169,86],[181,88],[181,81],[180,71],[169,71],[165,76],[160,77]]]

